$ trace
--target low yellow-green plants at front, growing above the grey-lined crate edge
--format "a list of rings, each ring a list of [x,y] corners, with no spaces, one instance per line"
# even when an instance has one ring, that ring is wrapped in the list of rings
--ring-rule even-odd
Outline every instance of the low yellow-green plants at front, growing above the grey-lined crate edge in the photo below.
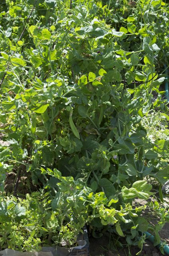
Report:
[[[116,223],[116,232],[124,236],[120,221],[131,222],[128,219],[130,216],[140,222],[141,217],[136,218],[138,215],[134,212],[141,211],[142,207],[134,210],[128,203],[116,210],[112,206],[115,200],[108,202],[104,192],[93,193],[84,182],[75,181],[73,177],[63,177],[56,169],[47,171],[61,181],[57,183],[58,191],[54,198],[50,192],[43,191],[27,194],[24,200],[17,200],[14,196],[0,197],[1,248],[8,245],[11,249],[36,251],[42,245],[73,246],[79,232],[83,232],[85,223],[94,225],[99,219],[103,225]],[[122,197],[145,196],[141,186],[143,182],[134,184],[129,194],[123,192]],[[146,182],[144,188],[150,188]],[[151,193],[147,190],[147,194]]]

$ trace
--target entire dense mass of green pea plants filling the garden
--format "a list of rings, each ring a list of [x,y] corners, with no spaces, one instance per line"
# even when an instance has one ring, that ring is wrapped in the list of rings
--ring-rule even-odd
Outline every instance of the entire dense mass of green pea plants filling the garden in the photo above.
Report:
[[[95,237],[106,229],[141,248],[152,227],[133,201],[153,194],[147,176],[162,200],[169,178],[169,140],[152,139],[145,126],[163,112],[168,134],[160,90],[167,3],[6,0],[0,17],[0,122],[9,144],[0,146],[0,248],[73,246],[85,223]],[[5,188],[11,172],[14,195]],[[18,190],[25,172],[26,196]]]

